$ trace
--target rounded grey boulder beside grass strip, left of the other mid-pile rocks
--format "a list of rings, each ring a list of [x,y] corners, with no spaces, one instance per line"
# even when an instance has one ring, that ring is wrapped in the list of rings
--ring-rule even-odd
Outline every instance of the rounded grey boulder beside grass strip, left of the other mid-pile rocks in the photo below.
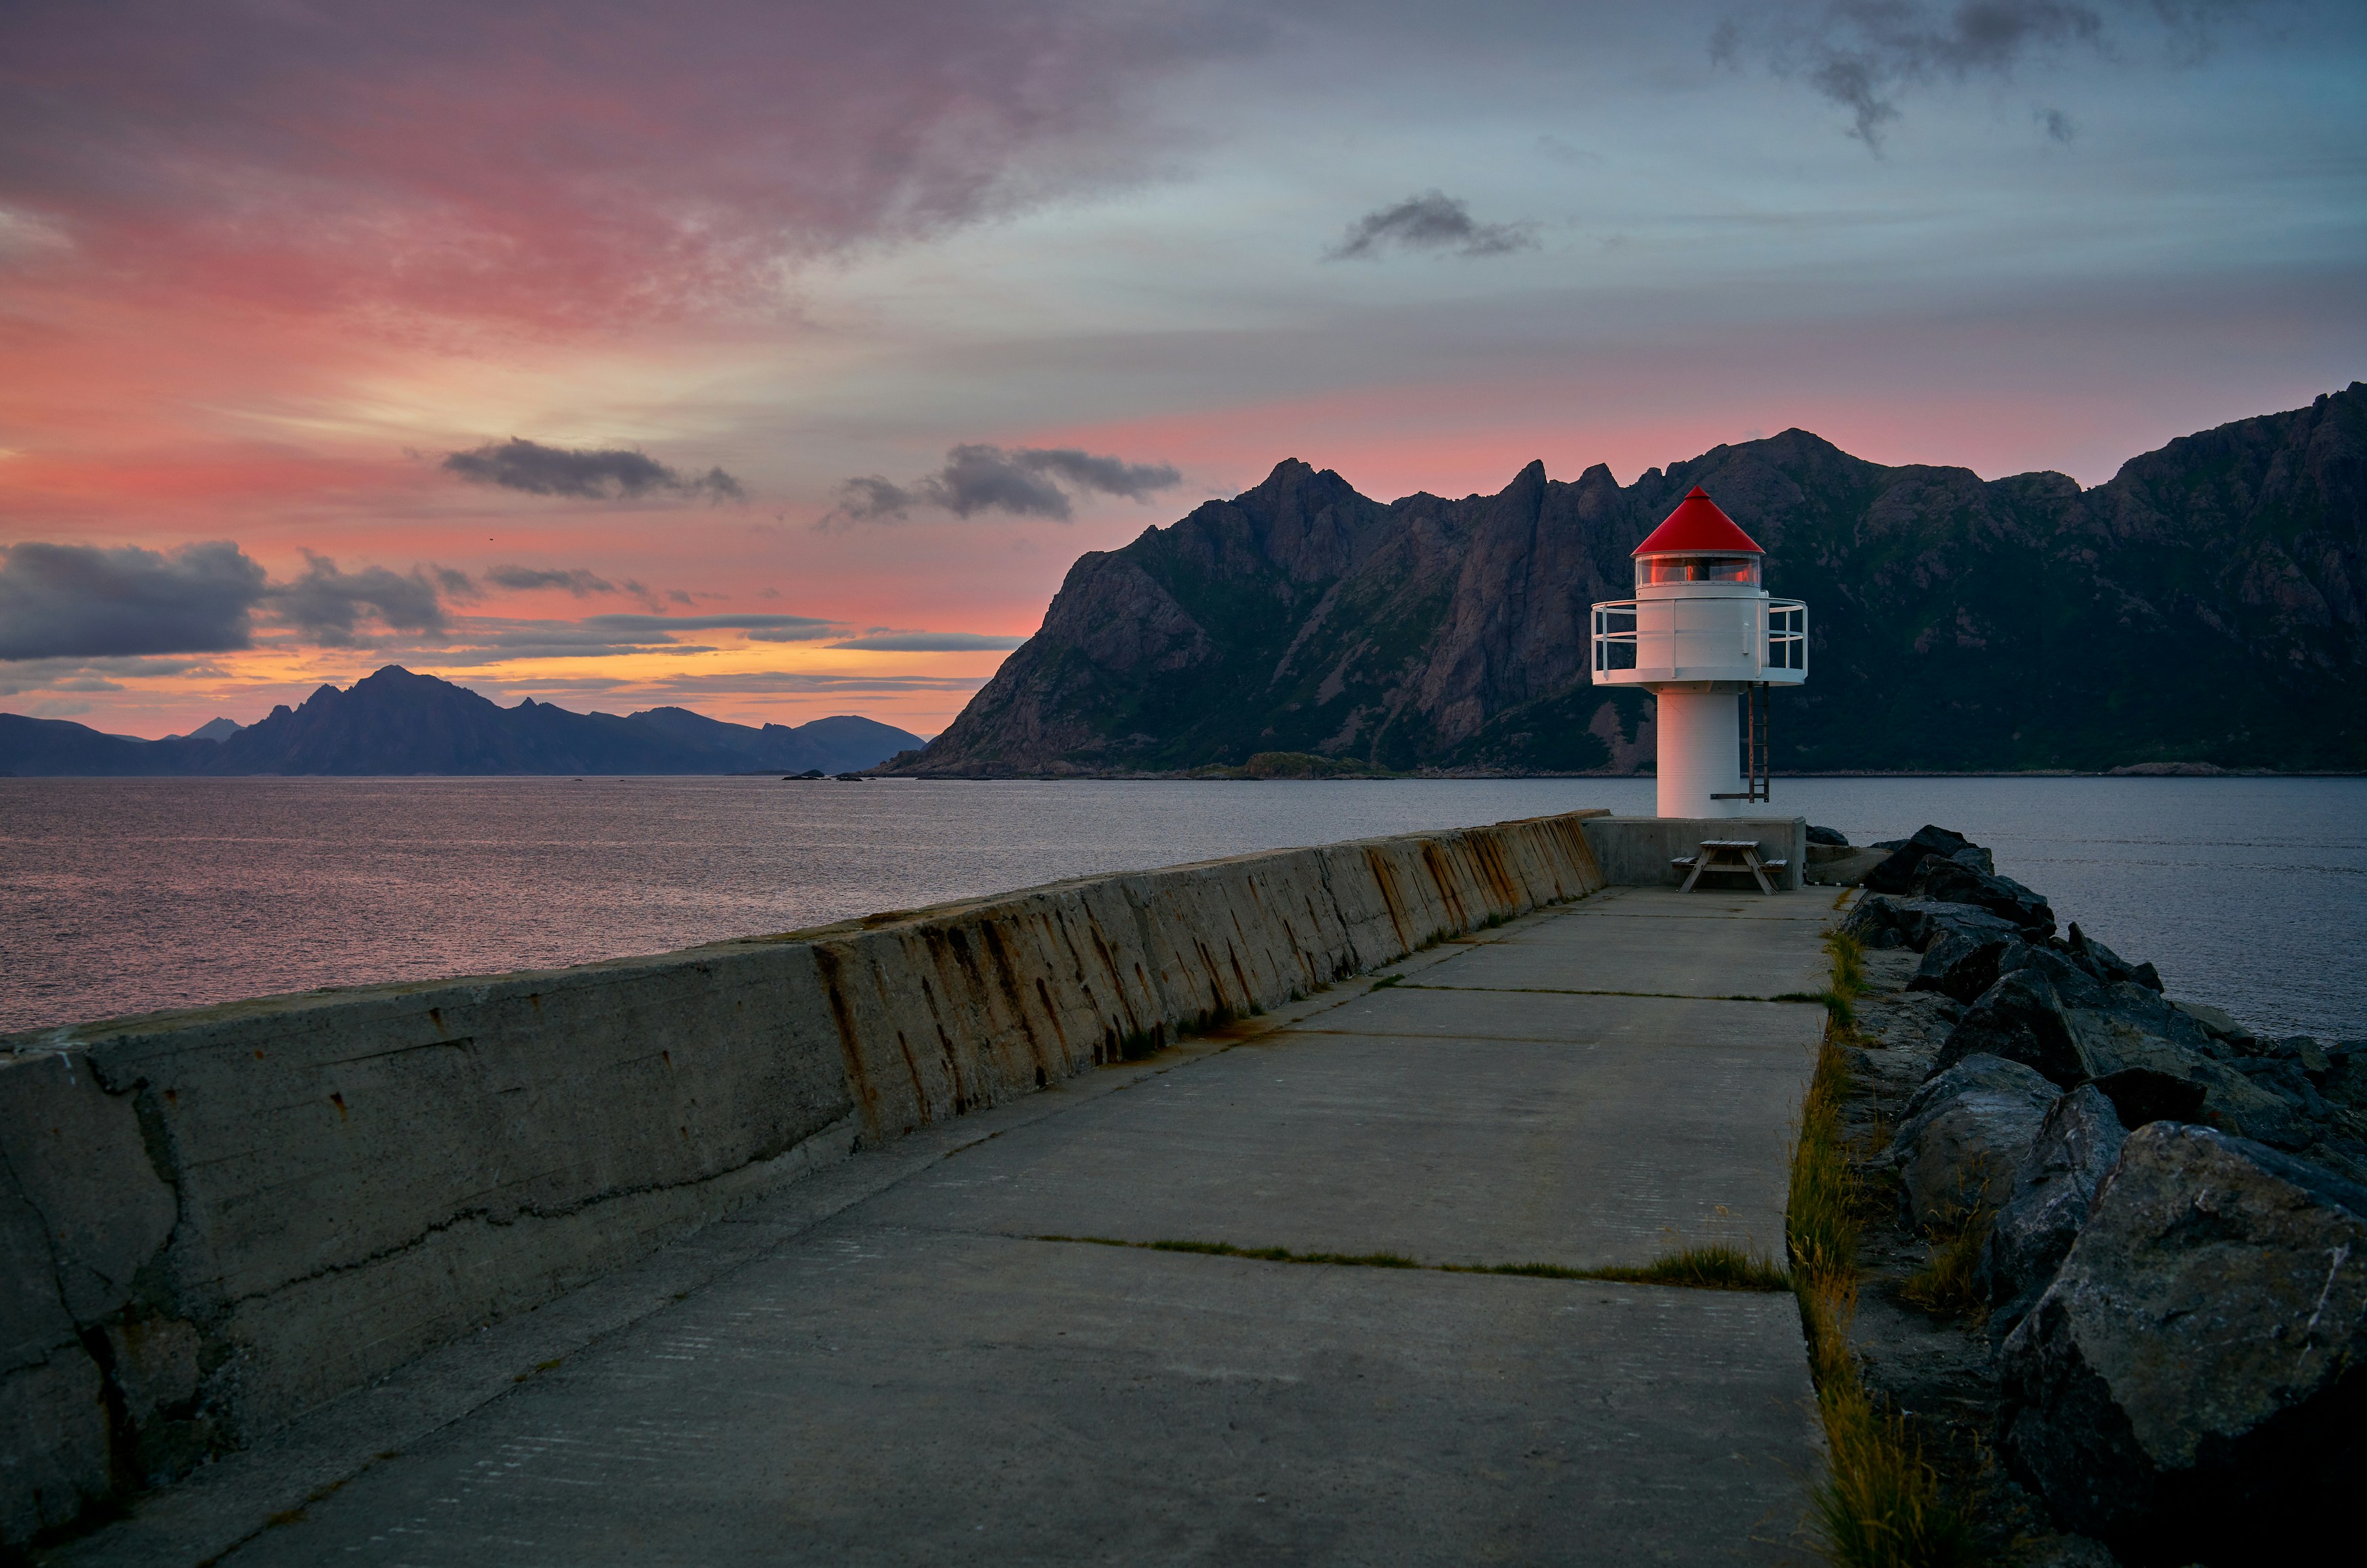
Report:
[[[1948,1225],[2005,1204],[2055,1100],[2052,1083],[2002,1057],[1969,1057],[1917,1088],[1891,1138],[1901,1225]]]

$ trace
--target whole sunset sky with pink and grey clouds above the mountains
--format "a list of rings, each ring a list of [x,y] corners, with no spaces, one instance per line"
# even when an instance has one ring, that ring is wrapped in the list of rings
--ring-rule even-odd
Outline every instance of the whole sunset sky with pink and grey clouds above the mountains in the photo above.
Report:
[[[942,728],[1070,563],[2367,378],[2367,7],[9,0],[0,710]]]

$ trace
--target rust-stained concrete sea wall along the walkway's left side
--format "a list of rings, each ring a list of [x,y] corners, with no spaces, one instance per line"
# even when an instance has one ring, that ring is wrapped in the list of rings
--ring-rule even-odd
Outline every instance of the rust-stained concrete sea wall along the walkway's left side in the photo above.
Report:
[[[857,1142],[1591,894],[1598,849],[1633,851],[1586,818],[5,1036],[0,1542],[253,1443]]]

